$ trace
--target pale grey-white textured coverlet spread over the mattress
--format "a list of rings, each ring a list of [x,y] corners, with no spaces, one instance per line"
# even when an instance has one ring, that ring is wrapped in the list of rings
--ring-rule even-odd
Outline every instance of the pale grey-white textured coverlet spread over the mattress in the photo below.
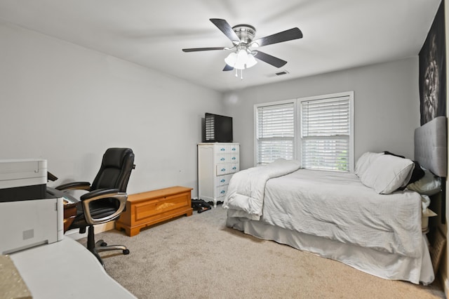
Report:
[[[269,225],[413,258],[422,254],[416,192],[377,194],[351,173],[300,169],[267,180],[262,206],[260,221]],[[245,217],[246,210],[230,208],[229,217]]]

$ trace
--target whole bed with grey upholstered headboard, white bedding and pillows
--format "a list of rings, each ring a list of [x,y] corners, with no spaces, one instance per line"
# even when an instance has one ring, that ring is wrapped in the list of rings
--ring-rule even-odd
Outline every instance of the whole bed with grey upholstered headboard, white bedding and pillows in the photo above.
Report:
[[[227,226],[384,279],[431,284],[425,232],[429,195],[447,171],[445,117],[415,130],[415,160],[367,152],[354,173],[283,159],[248,168],[229,182]]]

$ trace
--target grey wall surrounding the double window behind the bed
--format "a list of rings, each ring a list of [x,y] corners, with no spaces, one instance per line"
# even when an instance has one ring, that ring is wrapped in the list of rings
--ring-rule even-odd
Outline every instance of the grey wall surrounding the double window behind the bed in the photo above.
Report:
[[[413,159],[413,134],[420,126],[417,56],[227,93],[241,168],[254,166],[254,104],[342,91],[354,91],[355,159],[384,150]]]

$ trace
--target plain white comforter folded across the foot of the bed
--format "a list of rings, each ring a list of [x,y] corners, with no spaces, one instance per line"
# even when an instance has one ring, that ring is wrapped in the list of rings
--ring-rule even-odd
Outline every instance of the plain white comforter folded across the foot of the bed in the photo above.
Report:
[[[235,173],[229,181],[223,207],[236,210],[235,216],[259,220],[267,180],[292,173],[299,168],[299,161],[276,159],[270,164]]]

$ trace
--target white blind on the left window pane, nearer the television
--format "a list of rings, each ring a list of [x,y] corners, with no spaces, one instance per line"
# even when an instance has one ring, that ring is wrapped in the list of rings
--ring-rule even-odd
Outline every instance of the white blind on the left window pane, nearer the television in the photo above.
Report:
[[[295,153],[295,103],[257,107],[257,164],[293,159]]]

